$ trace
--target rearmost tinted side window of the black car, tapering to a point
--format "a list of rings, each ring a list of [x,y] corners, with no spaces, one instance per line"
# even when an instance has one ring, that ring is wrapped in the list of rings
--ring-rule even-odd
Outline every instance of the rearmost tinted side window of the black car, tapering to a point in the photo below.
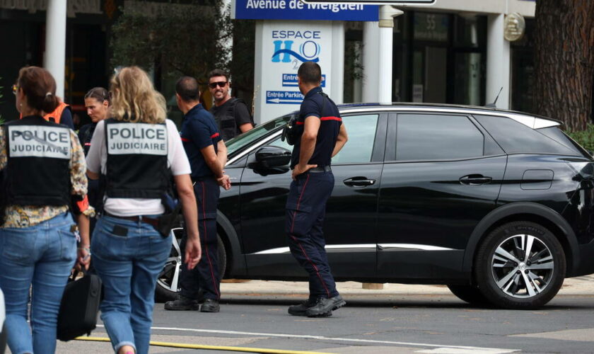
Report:
[[[474,115],[508,154],[569,154],[576,152],[516,120],[494,115]]]

